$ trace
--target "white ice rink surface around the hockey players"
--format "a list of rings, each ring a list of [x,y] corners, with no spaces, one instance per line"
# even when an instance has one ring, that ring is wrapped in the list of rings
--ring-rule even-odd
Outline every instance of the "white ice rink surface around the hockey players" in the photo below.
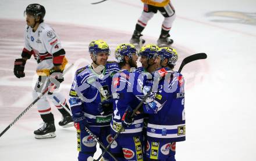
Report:
[[[138,0],[108,0],[91,5],[87,0],[0,0],[0,132],[32,101],[36,63],[27,61],[26,77],[13,75],[13,62],[23,49],[30,3],[45,6],[45,23],[59,34],[72,70],[61,92],[68,96],[74,71],[90,63],[88,43],[104,39],[111,46],[110,60],[119,43],[127,43],[143,4]],[[170,32],[179,62],[205,52],[207,60],[183,68],[186,79],[186,141],[176,144],[176,160],[254,161],[256,145],[256,1],[172,1],[177,18]],[[147,43],[156,43],[163,17],[160,13],[143,31]],[[0,138],[0,160],[77,160],[76,131],[58,126],[61,115],[54,106],[56,138],[36,140],[33,131],[41,119],[34,106]],[[100,155],[97,154],[94,158]]]

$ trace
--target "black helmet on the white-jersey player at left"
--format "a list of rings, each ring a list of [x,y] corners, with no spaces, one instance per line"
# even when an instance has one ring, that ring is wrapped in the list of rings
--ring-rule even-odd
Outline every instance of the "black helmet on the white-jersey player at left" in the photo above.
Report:
[[[24,11],[24,15],[27,13],[32,14],[35,19],[37,18],[37,16],[40,16],[40,22],[42,22],[45,16],[45,8],[38,3],[33,3],[27,6],[26,10]]]

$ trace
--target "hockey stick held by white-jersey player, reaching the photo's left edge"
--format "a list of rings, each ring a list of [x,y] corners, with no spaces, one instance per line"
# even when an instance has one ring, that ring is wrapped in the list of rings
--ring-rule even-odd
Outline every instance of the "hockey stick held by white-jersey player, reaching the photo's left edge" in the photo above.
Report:
[[[74,64],[71,64],[71,65],[63,72],[63,75],[64,75],[67,71],[69,71],[69,69],[70,69],[73,65],[74,65]],[[10,123],[10,125],[7,126],[7,127],[5,128],[5,130],[2,131],[2,133],[0,134],[0,137],[1,137],[8,129],[10,129],[10,127],[13,126],[13,125],[17,122],[17,120],[19,120],[27,111],[29,111],[29,109],[30,109],[31,107],[33,107],[33,105],[34,105],[35,103],[37,103],[37,101],[38,101],[42,96],[44,96],[44,94],[47,93],[48,90],[49,90],[49,86],[44,90],[44,92],[40,93],[40,96],[38,96],[37,98],[35,98],[35,100],[22,112],[22,114],[20,114],[19,116],[17,116],[17,118],[16,118],[12,123]]]

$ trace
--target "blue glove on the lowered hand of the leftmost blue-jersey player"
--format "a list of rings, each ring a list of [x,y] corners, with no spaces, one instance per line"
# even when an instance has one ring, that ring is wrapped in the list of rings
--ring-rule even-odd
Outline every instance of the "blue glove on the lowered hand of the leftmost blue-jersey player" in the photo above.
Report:
[[[86,116],[84,116],[84,112],[76,112],[73,114],[72,119],[74,121],[74,127],[76,127],[77,130],[79,129],[85,129],[88,125]]]

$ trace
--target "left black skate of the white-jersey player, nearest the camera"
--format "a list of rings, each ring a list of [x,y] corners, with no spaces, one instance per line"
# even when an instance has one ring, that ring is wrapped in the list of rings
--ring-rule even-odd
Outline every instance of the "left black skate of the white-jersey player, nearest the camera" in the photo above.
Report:
[[[34,131],[35,138],[53,138],[56,137],[54,122],[44,122],[42,126]]]

